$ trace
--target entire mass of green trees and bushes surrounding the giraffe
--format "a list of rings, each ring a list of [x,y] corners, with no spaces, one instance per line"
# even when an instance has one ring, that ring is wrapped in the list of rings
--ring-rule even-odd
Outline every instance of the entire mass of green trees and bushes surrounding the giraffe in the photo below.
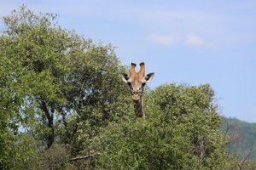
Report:
[[[209,85],[148,89],[137,119],[114,48],[56,17],[21,6],[3,18],[0,169],[253,168],[225,152]]]

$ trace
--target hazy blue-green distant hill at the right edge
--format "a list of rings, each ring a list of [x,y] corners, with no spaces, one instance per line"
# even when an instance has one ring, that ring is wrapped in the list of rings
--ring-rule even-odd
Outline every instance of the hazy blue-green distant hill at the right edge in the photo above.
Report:
[[[242,122],[236,118],[223,117],[222,130],[230,134],[233,142],[228,145],[230,153],[246,153],[253,147],[253,151],[248,157],[256,161],[256,123]]]

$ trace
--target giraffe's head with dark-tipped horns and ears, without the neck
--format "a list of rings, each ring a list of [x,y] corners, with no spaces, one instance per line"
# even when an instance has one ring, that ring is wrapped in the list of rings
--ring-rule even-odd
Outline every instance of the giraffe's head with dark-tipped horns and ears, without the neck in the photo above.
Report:
[[[154,72],[150,72],[145,76],[145,64],[140,64],[140,71],[135,71],[136,64],[131,63],[129,76],[123,73],[123,81],[126,82],[131,90],[131,98],[134,102],[141,101],[143,97],[143,89],[146,83],[150,82],[154,77]]]

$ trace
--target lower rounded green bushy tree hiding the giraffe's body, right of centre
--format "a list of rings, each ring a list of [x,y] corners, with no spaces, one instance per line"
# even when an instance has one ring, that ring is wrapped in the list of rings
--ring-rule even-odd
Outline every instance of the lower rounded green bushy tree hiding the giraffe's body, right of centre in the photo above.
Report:
[[[147,95],[147,121],[113,122],[96,140],[99,169],[223,169],[228,156],[221,117],[208,85],[156,88]]]

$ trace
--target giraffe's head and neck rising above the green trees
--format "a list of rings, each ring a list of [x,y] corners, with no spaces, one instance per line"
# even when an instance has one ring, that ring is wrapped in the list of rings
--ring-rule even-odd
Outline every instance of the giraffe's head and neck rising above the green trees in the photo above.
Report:
[[[146,83],[150,82],[154,77],[154,72],[150,72],[145,77],[145,64],[140,64],[140,70],[135,71],[136,64],[131,63],[131,69],[129,76],[125,73],[122,75],[122,79],[126,82],[131,90],[131,99],[134,103],[134,112],[137,117],[145,119],[143,111],[143,89]]]

